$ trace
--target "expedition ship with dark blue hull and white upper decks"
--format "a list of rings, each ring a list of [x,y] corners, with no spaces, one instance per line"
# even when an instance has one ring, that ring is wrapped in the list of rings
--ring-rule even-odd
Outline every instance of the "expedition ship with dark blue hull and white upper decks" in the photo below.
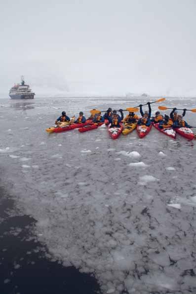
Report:
[[[34,99],[33,93],[28,84],[25,84],[24,77],[21,76],[21,84],[15,84],[9,90],[9,97],[11,99]]]

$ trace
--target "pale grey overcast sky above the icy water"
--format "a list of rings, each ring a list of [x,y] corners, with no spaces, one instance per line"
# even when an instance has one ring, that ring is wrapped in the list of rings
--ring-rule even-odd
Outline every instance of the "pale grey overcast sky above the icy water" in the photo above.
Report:
[[[6,0],[0,93],[196,96],[196,0]]]

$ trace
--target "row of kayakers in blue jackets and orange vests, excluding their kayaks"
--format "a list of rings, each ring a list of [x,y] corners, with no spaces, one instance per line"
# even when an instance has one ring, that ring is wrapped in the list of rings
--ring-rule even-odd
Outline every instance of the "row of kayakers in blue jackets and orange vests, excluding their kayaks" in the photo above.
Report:
[[[125,124],[137,124],[137,125],[144,125],[144,126],[150,126],[152,122],[158,123],[159,128],[166,128],[166,127],[192,127],[187,124],[183,120],[183,117],[186,114],[187,109],[183,109],[182,115],[178,115],[178,111],[176,108],[173,108],[173,110],[170,113],[170,117],[166,114],[162,115],[159,111],[155,113],[155,117],[151,118],[151,103],[148,102],[148,111],[144,111],[142,109],[142,104],[139,105],[140,108],[140,114],[141,117],[136,115],[133,111],[130,111],[126,117],[124,118],[123,110],[119,109],[118,112],[120,115],[117,114],[117,110],[112,110],[112,108],[108,108],[108,110],[105,112],[105,114],[102,116],[101,112],[98,112],[96,114],[91,114],[91,116],[88,118],[92,120],[93,123],[104,123],[105,120],[108,120],[109,124],[111,124],[111,127],[119,127],[120,122],[123,122]],[[133,110],[133,109],[132,109]],[[70,122],[71,124],[74,123],[85,123],[86,118],[83,116],[83,112],[79,112],[79,116],[77,119],[73,117],[70,119],[66,112],[63,111],[62,115],[55,121],[55,124],[58,125],[59,122]]]

